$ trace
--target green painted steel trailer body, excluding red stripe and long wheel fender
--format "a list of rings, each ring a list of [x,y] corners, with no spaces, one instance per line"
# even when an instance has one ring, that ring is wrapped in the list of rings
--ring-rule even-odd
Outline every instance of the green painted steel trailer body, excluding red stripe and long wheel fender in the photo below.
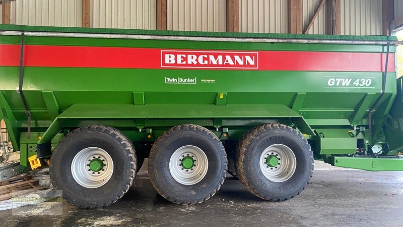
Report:
[[[13,25],[0,25],[0,30],[307,40],[396,40],[395,37],[387,36],[177,32]],[[21,36],[0,35],[0,45],[2,44],[20,45]],[[386,53],[387,49],[385,45],[369,44],[28,35],[25,36],[24,45],[337,53]],[[394,53],[395,47],[390,46],[389,51]],[[167,84],[166,77],[197,78],[197,83]],[[326,86],[329,78],[368,78],[371,79],[371,86],[329,88]],[[24,67],[23,91],[32,115],[33,132],[28,139],[25,108],[20,94],[16,92],[19,86],[19,67],[0,66],[0,118],[6,121],[14,148],[21,151],[27,151],[28,144],[32,143],[52,142],[56,145],[60,141],[59,135],[92,124],[118,128],[134,142],[153,143],[165,130],[180,124],[204,126],[223,141],[237,141],[254,126],[282,123],[303,133],[312,143],[316,157],[335,164],[332,162],[334,158],[328,159],[327,156],[355,154],[359,144],[363,144],[363,148],[360,148],[362,151],[369,150],[376,143],[386,144],[383,155],[394,154],[403,148],[403,116],[401,111],[399,113],[403,104],[398,102],[401,98],[398,93],[402,86],[401,80],[396,81],[395,72],[388,72],[382,95],[382,78],[381,71]],[[201,83],[201,79],[209,83]],[[368,112],[378,97],[381,98],[374,106],[369,122]],[[399,124],[400,128],[397,127]],[[396,132],[400,134],[396,136]],[[274,163],[274,158],[266,161],[272,164],[272,160]]]

